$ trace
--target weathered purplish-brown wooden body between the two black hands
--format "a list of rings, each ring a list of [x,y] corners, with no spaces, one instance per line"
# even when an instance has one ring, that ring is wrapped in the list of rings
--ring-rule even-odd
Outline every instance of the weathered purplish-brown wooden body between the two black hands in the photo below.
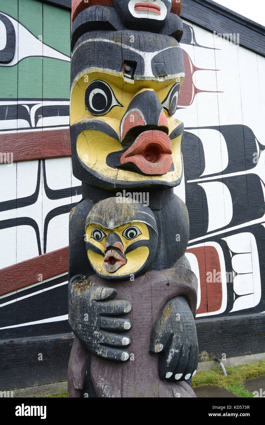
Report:
[[[96,275],[91,281],[97,285],[104,283]],[[129,350],[134,357],[126,363],[113,363],[92,356],[91,378],[98,397],[176,397],[176,393],[180,393],[180,397],[194,397],[188,384],[184,384],[188,393],[183,395],[179,384],[160,380],[158,355],[149,353],[154,320],[168,299],[185,294],[194,311],[196,280],[193,273],[183,268],[149,272],[134,282],[119,282],[114,287],[118,299],[126,294],[133,305],[128,317],[133,323]]]

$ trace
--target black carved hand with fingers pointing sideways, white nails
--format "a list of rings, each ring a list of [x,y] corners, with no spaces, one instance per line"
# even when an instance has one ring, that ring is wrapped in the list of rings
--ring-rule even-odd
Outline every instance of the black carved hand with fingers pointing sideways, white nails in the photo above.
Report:
[[[131,320],[123,316],[131,303],[114,300],[116,289],[89,286],[87,281],[71,283],[69,323],[77,337],[91,353],[117,362],[129,359]]]

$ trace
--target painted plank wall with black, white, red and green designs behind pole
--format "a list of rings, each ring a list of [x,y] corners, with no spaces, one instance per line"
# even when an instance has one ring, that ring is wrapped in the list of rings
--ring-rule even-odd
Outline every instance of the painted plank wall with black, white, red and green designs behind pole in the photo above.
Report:
[[[37,0],[0,0],[2,340],[70,331],[68,216],[81,199],[68,130],[70,22]],[[200,319],[265,311],[265,58],[237,37],[184,21],[184,177],[174,192],[190,216]]]

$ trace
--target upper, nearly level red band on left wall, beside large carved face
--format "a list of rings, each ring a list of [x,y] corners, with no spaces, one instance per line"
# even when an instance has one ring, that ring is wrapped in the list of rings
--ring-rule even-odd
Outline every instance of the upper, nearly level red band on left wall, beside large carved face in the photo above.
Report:
[[[71,156],[69,129],[5,133],[0,136],[0,152],[13,152],[13,161]]]

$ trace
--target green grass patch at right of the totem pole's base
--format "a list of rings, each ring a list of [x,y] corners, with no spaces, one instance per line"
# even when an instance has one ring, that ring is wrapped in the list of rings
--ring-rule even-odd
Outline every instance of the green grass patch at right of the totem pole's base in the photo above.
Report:
[[[216,385],[225,388],[238,397],[254,397],[254,394],[244,388],[244,381],[265,376],[265,361],[260,360],[246,365],[232,366],[225,368],[225,370],[227,377],[224,376],[220,366],[213,370],[198,371],[192,378],[193,388],[203,385]]]

